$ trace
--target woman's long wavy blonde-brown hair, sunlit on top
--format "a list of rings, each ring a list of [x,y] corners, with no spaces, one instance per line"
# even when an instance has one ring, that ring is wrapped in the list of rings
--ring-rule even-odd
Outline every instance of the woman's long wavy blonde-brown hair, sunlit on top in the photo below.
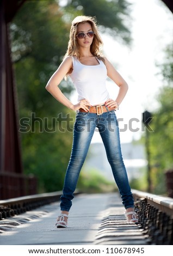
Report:
[[[94,32],[94,38],[92,40],[92,44],[90,47],[91,53],[102,59],[102,53],[101,53],[101,46],[103,45],[103,41],[101,39],[101,36],[98,34],[98,29],[96,25],[96,18],[95,17],[90,17],[90,16],[77,16],[71,23],[71,29],[70,29],[70,39],[69,39],[69,44],[67,47],[66,54],[64,56],[76,56],[77,58],[80,57],[80,51],[79,51],[79,45],[78,45],[78,40],[77,40],[77,28],[80,23],[90,23],[92,31]]]

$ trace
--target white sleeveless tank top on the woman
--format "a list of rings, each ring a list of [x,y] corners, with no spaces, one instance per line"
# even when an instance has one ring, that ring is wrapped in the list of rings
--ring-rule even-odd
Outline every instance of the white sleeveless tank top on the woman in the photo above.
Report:
[[[87,99],[92,106],[104,104],[109,99],[106,88],[107,69],[102,60],[98,65],[83,65],[72,56],[73,71],[69,76],[75,85],[78,101]]]

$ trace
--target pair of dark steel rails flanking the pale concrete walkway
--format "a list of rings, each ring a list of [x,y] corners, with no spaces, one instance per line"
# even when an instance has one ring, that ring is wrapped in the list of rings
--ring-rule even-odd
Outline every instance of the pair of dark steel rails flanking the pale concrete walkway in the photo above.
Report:
[[[78,194],[79,192],[76,192]],[[138,227],[151,245],[173,245],[173,198],[132,190]],[[0,225],[5,218],[60,200],[61,191],[0,200]]]

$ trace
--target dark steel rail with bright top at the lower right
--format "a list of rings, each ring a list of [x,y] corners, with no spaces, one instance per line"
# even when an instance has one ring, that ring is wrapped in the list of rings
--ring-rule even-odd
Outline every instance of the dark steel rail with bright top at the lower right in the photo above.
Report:
[[[150,245],[173,245],[173,198],[132,190],[139,228]]]

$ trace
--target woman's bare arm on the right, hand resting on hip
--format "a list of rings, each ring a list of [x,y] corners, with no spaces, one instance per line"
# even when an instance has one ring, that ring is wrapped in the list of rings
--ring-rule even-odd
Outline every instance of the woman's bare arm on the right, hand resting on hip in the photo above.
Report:
[[[126,81],[122,78],[122,76],[119,74],[118,71],[116,71],[116,69],[114,68],[114,66],[108,61],[107,58],[105,59],[105,64],[106,64],[106,68],[107,68],[107,75],[110,79],[112,79],[114,81],[114,83],[119,86],[119,93],[114,100],[109,99],[106,102],[106,105],[108,107],[115,107],[118,108],[118,105],[121,104],[123,98],[126,96],[127,90],[128,90],[128,84],[126,83]],[[116,104],[118,103],[118,105]]]

